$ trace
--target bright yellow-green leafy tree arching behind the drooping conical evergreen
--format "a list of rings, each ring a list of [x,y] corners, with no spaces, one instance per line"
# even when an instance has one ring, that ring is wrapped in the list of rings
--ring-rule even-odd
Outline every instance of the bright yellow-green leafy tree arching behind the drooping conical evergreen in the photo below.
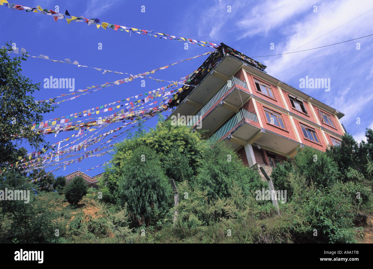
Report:
[[[148,146],[159,156],[160,164],[168,178],[175,181],[192,180],[197,174],[201,156],[206,144],[200,134],[191,132],[189,127],[172,125],[160,117],[155,129],[145,132],[140,129],[135,136],[125,139],[115,146],[111,165],[105,170],[106,188],[110,192],[110,200],[116,203],[119,181],[125,175],[125,164],[132,151],[140,146]]]

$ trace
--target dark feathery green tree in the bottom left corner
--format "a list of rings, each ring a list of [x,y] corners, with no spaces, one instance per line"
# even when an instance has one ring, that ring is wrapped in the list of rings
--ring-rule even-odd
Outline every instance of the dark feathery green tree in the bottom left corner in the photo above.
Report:
[[[26,192],[23,200],[0,202],[0,242],[56,243],[55,229],[62,232],[66,227],[66,224],[57,221],[61,216],[60,209],[54,209],[62,202],[60,196],[54,192],[35,195],[32,184],[27,183],[29,178],[17,171],[5,171],[0,178],[2,190]]]

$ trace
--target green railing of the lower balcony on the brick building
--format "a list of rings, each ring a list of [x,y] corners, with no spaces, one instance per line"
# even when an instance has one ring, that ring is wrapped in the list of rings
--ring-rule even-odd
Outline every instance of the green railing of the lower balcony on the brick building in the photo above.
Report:
[[[223,124],[219,129],[216,130],[215,133],[213,133],[212,136],[210,136],[209,139],[207,139],[207,143],[214,144],[218,142],[244,118],[258,122],[256,114],[241,108],[229,121]]]

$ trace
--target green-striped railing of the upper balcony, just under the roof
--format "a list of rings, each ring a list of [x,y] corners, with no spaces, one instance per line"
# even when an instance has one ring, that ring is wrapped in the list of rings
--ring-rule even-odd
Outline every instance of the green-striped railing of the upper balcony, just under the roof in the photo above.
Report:
[[[231,77],[231,79],[228,80],[227,83],[225,83],[225,85],[216,94],[214,94],[214,96],[212,96],[212,98],[197,113],[195,113],[195,115],[186,125],[190,127],[194,126],[200,117],[206,114],[206,112],[209,111],[210,108],[213,107],[213,105],[216,104],[217,101],[219,101],[220,98],[222,98],[229,91],[229,89],[232,88],[233,85],[239,85],[242,88],[247,89],[245,81],[236,77]]]

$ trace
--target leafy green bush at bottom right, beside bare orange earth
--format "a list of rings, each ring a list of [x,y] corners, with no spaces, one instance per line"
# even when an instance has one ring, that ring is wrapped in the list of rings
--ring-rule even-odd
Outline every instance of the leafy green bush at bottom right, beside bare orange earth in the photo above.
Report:
[[[297,240],[314,243],[354,243],[354,215],[347,197],[338,188],[316,189],[304,176],[291,175],[294,186],[295,218],[293,233]],[[314,230],[317,236],[314,236]]]

